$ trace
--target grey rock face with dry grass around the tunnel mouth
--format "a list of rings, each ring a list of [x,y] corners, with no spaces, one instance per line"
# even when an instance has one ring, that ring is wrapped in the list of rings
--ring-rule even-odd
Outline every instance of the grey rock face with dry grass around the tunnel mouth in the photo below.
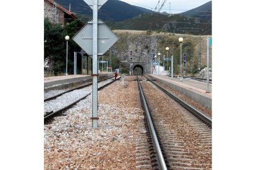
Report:
[[[113,30],[119,37],[118,41],[112,46],[112,55],[116,55],[121,60],[119,68],[130,70],[130,67],[143,68],[143,73],[151,72],[151,63],[158,62],[160,58],[160,66],[163,66],[163,56],[166,57],[166,47],[169,47],[168,57],[174,57],[174,74],[175,70],[179,72],[179,59],[180,59],[180,43],[179,37],[184,39],[182,42],[182,54],[187,53],[187,56],[194,56],[192,62],[187,62],[187,69],[197,67],[198,60],[198,36],[190,34],[174,34],[174,33],[155,33],[152,31],[134,31],[134,30]],[[202,36],[202,46],[205,46],[204,41],[207,36]],[[132,55],[130,55],[132,51]],[[160,52],[160,57],[158,57]],[[190,52],[190,54],[189,54]],[[202,63],[205,63],[206,49],[202,48]],[[211,51],[210,51],[211,52]],[[108,54],[106,54],[108,55]],[[155,55],[155,57],[154,57]],[[211,57],[211,55],[210,55]],[[190,59],[190,57],[189,57]],[[210,58],[211,59],[211,58]],[[132,63],[132,64],[131,64]],[[165,70],[171,66],[171,62],[164,62]],[[152,65],[153,67],[153,65]]]

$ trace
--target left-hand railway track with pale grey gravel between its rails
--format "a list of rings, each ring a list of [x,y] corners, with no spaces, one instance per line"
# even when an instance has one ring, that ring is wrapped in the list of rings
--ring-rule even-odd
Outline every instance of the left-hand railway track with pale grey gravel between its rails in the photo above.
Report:
[[[120,79],[120,77],[117,79]],[[99,82],[103,82],[103,81],[99,81]],[[100,91],[101,89],[109,86],[109,84],[112,84],[113,82],[114,80],[108,82],[108,79],[105,79],[105,82],[103,82],[103,84],[100,84],[100,87],[98,87],[98,90]],[[90,88],[90,86],[92,86],[92,84],[87,84],[83,87],[82,86],[76,87],[69,91],[62,92],[61,94],[54,95],[53,97],[49,97],[48,100],[46,100],[45,102],[45,115],[44,115],[45,123],[48,122],[49,119],[53,118],[54,116],[58,116],[62,112],[73,107],[80,100],[83,100],[88,95],[90,95],[92,93],[92,89]],[[70,95],[70,93],[72,94]],[[61,99],[54,100],[56,98],[61,98]]]

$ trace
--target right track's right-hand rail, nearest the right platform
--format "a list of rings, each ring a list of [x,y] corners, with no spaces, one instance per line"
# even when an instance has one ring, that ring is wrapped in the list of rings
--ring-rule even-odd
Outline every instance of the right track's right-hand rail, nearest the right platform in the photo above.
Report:
[[[144,77],[147,78],[146,76],[144,76]],[[147,79],[149,79],[149,78],[147,78]],[[196,116],[198,119],[201,119],[204,123],[208,124],[208,126],[211,127],[211,118],[209,116],[207,116],[205,113],[202,113],[201,111],[197,110],[196,108],[192,107],[191,105],[189,105],[189,103],[184,102],[183,100],[179,99],[175,95],[173,95],[170,92],[166,91],[165,89],[163,89],[163,87],[160,87],[158,84],[156,84],[155,82],[151,81],[151,79],[149,79],[149,80],[150,80],[150,82],[152,84],[154,84],[156,87],[161,89],[161,91],[163,91],[169,97],[174,99],[182,107],[186,108],[186,110],[189,111],[190,113],[192,113],[192,115]]]

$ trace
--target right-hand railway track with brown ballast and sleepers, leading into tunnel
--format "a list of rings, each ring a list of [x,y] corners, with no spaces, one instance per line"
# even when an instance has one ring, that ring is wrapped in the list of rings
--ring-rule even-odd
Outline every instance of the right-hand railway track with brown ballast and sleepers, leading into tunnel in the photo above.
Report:
[[[166,167],[211,169],[211,119],[175,96],[170,99],[172,95],[152,83],[142,81],[142,86],[139,86],[143,88],[147,100],[143,103],[148,105],[144,108],[151,115],[150,124],[156,129]],[[161,163],[156,164],[159,166]]]

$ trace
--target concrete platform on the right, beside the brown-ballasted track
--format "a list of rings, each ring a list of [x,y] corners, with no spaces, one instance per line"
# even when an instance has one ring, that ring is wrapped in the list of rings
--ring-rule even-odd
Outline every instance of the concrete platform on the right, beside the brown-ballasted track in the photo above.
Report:
[[[207,83],[200,81],[195,81],[189,78],[171,78],[170,76],[164,75],[148,75],[150,78],[156,79],[156,81],[166,84],[166,86],[171,87],[175,91],[186,95],[189,99],[194,100],[202,104],[207,108],[211,108],[211,84],[208,86]]]

